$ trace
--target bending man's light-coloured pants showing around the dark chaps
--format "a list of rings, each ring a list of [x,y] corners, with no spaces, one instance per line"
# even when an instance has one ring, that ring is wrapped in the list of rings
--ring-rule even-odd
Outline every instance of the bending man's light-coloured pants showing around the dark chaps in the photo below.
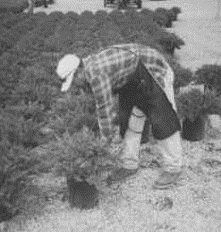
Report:
[[[174,110],[177,111],[172,84],[174,77],[173,71],[170,68],[168,69],[167,77],[168,81],[165,83],[166,87],[164,91],[169,101],[171,102]],[[137,115],[139,117],[136,117],[134,115]],[[134,107],[129,119],[129,128],[125,134],[123,151],[120,157],[121,166],[125,168],[134,169],[138,168],[139,166],[140,141],[145,120],[146,116],[144,115],[144,113],[137,107]],[[168,118],[166,120],[170,119]],[[134,131],[140,133],[134,133]],[[158,147],[161,151],[161,154],[163,155],[164,170],[170,172],[179,171],[183,164],[180,132],[177,131],[172,136],[164,140],[158,140]]]

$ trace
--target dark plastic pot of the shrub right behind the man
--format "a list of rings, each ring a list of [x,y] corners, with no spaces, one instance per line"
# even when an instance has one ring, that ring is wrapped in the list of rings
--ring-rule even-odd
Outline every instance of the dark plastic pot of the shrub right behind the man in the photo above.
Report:
[[[188,141],[200,141],[205,136],[207,116],[200,115],[193,122],[186,118],[182,125],[182,138]]]

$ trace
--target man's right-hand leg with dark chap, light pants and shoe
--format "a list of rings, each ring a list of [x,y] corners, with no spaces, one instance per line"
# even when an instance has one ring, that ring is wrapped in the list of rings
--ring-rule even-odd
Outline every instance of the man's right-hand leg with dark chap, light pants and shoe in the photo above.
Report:
[[[168,69],[164,90],[142,64],[140,65],[140,76],[145,77],[145,82],[139,86],[134,101],[135,105],[150,118],[153,136],[159,141],[165,166],[164,172],[156,184],[166,186],[176,181],[183,162],[181,125],[174,100],[173,72],[170,68]]]

